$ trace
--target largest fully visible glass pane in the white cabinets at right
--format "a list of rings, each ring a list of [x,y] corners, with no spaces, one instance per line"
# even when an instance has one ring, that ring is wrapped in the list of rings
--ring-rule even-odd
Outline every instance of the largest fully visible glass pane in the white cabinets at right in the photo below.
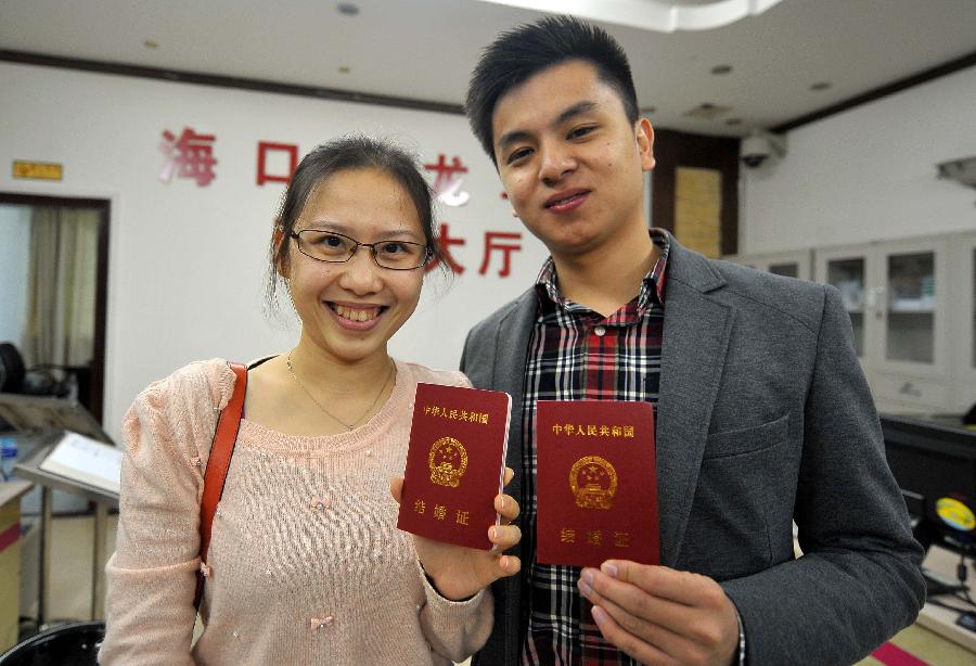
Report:
[[[935,253],[889,255],[885,359],[935,362]]]

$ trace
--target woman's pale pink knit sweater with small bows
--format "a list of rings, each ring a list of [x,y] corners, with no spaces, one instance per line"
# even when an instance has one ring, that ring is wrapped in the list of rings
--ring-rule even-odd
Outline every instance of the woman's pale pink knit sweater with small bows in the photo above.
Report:
[[[146,388],[124,423],[101,663],[439,665],[479,649],[490,591],[441,598],[396,528],[389,479],[403,471],[418,382],[466,385],[398,361],[386,405],[351,433],[297,437],[242,422],[214,520],[206,629],[192,649],[203,471],[234,377],[215,359]]]

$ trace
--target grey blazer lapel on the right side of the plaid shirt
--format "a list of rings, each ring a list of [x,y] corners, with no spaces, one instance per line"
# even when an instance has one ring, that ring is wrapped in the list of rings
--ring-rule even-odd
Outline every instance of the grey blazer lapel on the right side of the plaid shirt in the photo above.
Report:
[[[660,561],[668,566],[680,553],[732,331],[731,309],[708,295],[724,283],[705,257],[671,239],[656,428]]]

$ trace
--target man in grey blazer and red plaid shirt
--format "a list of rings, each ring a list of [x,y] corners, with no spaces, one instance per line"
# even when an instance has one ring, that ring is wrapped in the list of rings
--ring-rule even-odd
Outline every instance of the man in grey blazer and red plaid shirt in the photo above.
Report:
[[[524,509],[524,574],[496,585],[475,664],[850,664],[912,623],[922,550],[837,292],[648,228],[654,132],[600,28],[547,18],[501,35],[466,108],[551,253],[461,361],[513,396]],[[654,405],[662,566],[536,560],[540,399]]]

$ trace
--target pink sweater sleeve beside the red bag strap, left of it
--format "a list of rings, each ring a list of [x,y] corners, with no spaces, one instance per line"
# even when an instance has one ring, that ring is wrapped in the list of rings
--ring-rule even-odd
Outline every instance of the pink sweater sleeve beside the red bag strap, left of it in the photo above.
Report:
[[[233,375],[193,363],[146,388],[123,424],[116,551],[106,565],[103,666],[190,665],[200,567],[200,498]]]

